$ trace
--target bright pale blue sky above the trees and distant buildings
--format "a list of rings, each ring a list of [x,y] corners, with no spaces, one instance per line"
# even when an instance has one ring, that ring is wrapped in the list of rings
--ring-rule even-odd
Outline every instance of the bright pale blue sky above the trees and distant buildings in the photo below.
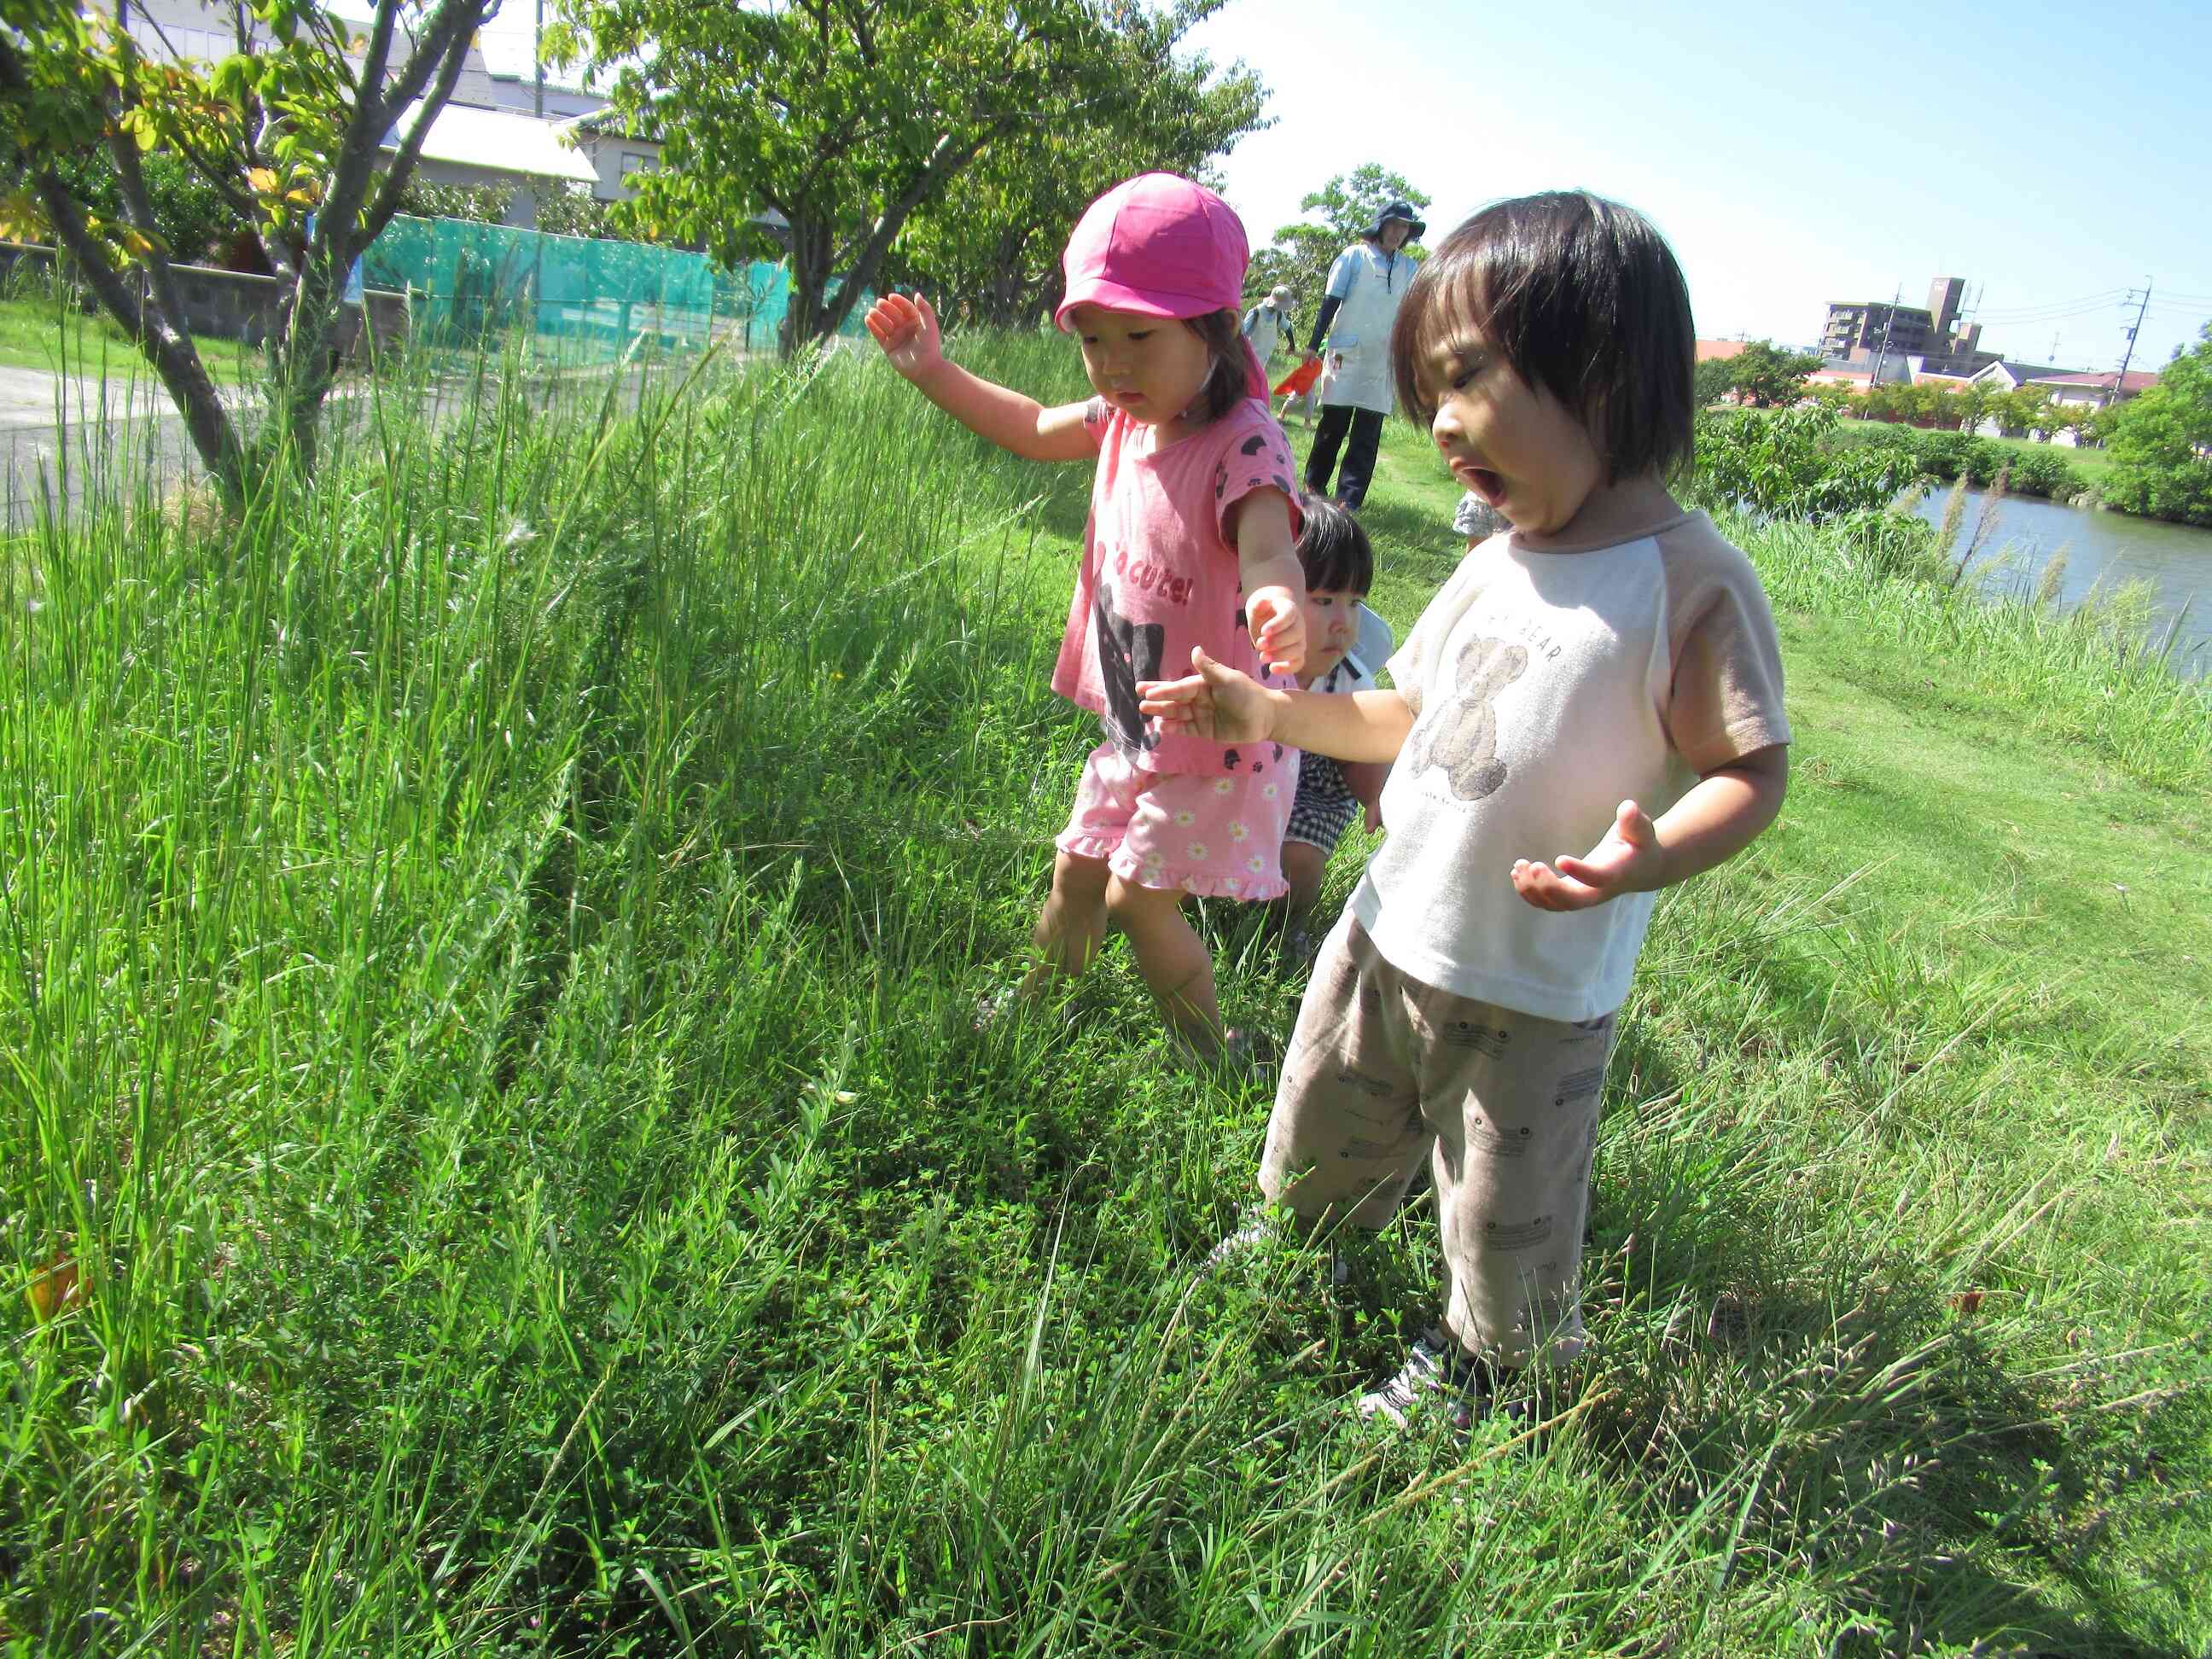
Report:
[[[1230,0],[1188,38],[1243,58],[1276,126],[1223,161],[1254,246],[1334,173],[1433,197],[1582,186],[1648,212],[1701,334],[1812,343],[1827,301],[1964,276],[1982,345],[2132,367],[2212,319],[2212,7],[1865,0],[1694,11],[1553,0]],[[2057,336],[2057,356],[2051,356]]]

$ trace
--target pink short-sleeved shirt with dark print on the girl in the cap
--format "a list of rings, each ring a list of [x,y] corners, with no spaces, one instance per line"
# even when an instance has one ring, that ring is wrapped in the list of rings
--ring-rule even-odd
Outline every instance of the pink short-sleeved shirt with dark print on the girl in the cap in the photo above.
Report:
[[[1155,447],[1157,427],[1093,398],[1084,429],[1097,440],[1084,564],[1060,639],[1053,690],[1097,710],[1106,737],[1146,772],[1261,772],[1276,745],[1243,750],[1197,737],[1161,737],[1137,712],[1139,679],[1190,672],[1190,648],[1270,686],[1243,619],[1230,509],[1254,489],[1290,498],[1298,526],[1290,442],[1259,398],[1208,427]],[[1230,759],[1234,757],[1234,759]]]

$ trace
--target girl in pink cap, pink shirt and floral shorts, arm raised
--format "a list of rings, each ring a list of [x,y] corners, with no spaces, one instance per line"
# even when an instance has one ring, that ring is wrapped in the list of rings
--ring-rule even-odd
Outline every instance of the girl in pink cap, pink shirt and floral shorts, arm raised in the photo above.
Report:
[[[1192,646],[1270,684],[1305,659],[1296,471],[1237,330],[1245,257],[1237,215],[1190,179],[1146,173],[1093,201],[1055,321],[1097,396],[1055,409],[949,363],[929,301],[887,294],[867,312],[891,365],[971,431],[1097,467],[1053,690],[1095,710],[1106,741],[1055,841],[1022,993],[1082,973],[1117,927],[1170,1033],[1206,1057],[1225,1033],[1183,896],[1283,896],[1298,754],[1164,734],[1137,712],[1137,681],[1181,672]]]

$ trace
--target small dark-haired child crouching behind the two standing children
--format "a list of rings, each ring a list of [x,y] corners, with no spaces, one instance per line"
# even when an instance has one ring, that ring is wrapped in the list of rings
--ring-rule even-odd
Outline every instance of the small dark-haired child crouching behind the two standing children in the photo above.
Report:
[[[1305,672],[1298,684],[1318,692],[1374,690],[1376,668],[1391,650],[1391,633],[1365,604],[1376,580],[1367,531],[1343,507],[1307,500],[1298,564],[1305,568]],[[1332,761],[1327,754],[1298,759],[1298,799],[1290,805],[1290,830],[1283,832],[1287,938],[1303,936],[1301,925],[1321,898],[1329,854],[1352,818],[1365,807],[1367,827],[1376,827],[1385,776],[1389,768],[1374,761]]]

